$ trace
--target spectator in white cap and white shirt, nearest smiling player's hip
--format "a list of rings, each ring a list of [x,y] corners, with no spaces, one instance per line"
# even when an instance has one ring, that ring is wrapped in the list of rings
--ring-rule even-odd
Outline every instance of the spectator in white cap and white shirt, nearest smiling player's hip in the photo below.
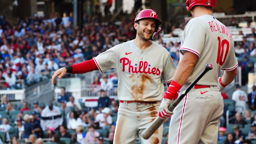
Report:
[[[96,116],[95,122],[99,122],[100,127],[109,126],[112,124],[112,117],[110,116],[110,108],[105,107],[100,113]]]

